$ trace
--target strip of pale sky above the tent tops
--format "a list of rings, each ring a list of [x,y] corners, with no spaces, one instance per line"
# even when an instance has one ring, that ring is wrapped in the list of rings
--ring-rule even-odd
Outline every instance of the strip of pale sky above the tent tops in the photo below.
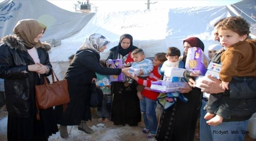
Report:
[[[86,0],[48,0],[49,2],[69,11],[74,10],[74,4],[86,2]],[[196,7],[196,6],[220,6],[230,5],[241,0],[150,0],[150,9],[157,8],[178,8],[178,7]],[[155,3],[157,2],[157,3]],[[127,10],[145,10],[147,9],[147,0],[90,0],[90,3],[97,6],[99,12],[127,11]],[[92,8],[94,11],[95,8]]]

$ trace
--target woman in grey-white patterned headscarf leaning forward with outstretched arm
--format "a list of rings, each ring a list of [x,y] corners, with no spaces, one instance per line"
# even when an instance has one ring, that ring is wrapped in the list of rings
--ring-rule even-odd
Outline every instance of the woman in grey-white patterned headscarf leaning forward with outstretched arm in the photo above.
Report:
[[[90,112],[90,84],[96,78],[95,72],[105,75],[119,75],[121,72],[129,74],[127,69],[112,69],[102,67],[99,64],[100,52],[106,49],[109,41],[100,34],[90,35],[78,49],[74,59],[69,65],[64,79],[67,79],[70,102],[63,112],[62,106],[56,106],[57,123],[61,125],[62,138],[68,138],[67,126],[79,125],[78,129],[86,133],[88,130],[86,121],[91,119]]]

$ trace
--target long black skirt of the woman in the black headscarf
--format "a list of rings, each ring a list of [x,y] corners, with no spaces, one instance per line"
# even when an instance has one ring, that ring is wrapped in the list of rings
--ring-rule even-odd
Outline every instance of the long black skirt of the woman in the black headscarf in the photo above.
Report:
[[[137,126],[141,121],[141,114],[136,84],[125,87],[123,82],[114,82],[111,89],[114,95],[111,121],[115,125]]]

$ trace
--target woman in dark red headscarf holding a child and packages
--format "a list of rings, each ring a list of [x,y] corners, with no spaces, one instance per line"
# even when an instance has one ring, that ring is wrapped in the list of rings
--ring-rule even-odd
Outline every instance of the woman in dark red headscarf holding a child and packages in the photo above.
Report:
[[[204,50],[203,42],[197,37],[190,37],[183,41],[184,53],[182,61],[186,62],[189,47],[199,47]],[[188,80],[188,79],[187,79]],[[187,83],[181,88],[180,93],[188,99],[188,102],[177,101],[175,106],[163,111],[157,127],[157,141],[193,141],[195,125],[200,111],[201,89],[192,88]]]

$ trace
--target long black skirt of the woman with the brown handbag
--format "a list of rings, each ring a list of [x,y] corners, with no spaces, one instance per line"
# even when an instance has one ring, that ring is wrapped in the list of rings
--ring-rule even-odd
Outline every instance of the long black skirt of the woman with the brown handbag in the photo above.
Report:
[[[8,141],[47,141],[49,136],[58,132],[53,108],[40,109],[40,120],[36,115],[29,118],[8,116]]]

